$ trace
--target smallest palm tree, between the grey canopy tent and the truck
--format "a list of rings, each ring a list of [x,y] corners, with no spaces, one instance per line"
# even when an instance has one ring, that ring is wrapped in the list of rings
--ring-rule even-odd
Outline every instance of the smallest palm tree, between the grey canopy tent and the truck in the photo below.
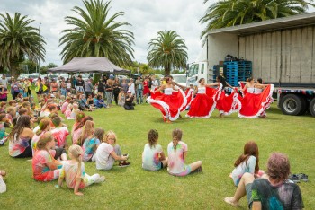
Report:
[[[188,56],[184,39],[175,31],[158,31],[157,35],[148,43],[148,65],[164,67],[166,75],[170,74],[172,66],[185,67]]]

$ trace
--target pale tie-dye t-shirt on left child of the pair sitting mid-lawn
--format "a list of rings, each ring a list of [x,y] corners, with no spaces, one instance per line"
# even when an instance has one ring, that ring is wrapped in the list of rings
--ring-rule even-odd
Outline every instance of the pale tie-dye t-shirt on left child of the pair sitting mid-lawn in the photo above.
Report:
[[[152,147],[150,147],[149,144],[146,144],[142,153],[142,168],[149,171],[157,171],[161,169],[159,156],[162,152],[163,149],[160,144]]]

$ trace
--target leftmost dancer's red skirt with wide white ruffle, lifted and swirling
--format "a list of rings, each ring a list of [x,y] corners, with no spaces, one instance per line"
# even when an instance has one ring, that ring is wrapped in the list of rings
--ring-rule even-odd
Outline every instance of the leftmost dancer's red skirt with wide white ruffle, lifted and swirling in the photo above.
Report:
[[[159,109],[164,118],[169,118],[171,121],[175,121],[179,117],[180,110],[185,105],[184,92],[180,89],[171,95],[162,92],[151,93],[147,101]]]

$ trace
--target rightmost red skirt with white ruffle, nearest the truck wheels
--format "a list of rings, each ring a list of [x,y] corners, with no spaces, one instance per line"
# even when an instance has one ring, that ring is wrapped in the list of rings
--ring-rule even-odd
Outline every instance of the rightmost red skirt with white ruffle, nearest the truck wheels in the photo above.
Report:
[[[241,109],[239,118],[258,118],[265,114],[266,109],[270,107],[273,99],[274,84],[268,85],[260,94],[247,92],[241,99]]]

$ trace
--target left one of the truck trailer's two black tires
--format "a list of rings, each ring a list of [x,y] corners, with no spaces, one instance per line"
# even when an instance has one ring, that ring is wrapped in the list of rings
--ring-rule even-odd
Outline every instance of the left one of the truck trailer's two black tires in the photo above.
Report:
[[[284,115],[302,115],[306,111],[306,101],[295,94],[287,94],[280,101],[280,108]]]

